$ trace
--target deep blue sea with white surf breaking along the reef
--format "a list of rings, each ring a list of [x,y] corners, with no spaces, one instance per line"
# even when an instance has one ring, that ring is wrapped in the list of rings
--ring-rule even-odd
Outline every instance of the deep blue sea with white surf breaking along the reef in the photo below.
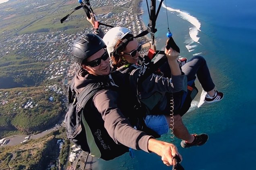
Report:
[[[149,1],[150,2],[150,1]],[[165,1],[164,1],[165,3]],[[143,1],[145,25],[148,12]],[[167,0],[169,28],[190,59],[203,55],[221,102],[197,108],[200,93],[183,121],[189,132],[207,133],[200,147],[183,149],[175,139],[186,170],[256,170],[256,1],[254,0]],[[157,26],[157,48],[165,44],[166,9],[161,8]],[[197,83],[198,89],[202,89]],[[161,137],[169,141],[169,135]],[[102,170],[171,169],[154,153],[135,151],[112,161],[99,161]]]

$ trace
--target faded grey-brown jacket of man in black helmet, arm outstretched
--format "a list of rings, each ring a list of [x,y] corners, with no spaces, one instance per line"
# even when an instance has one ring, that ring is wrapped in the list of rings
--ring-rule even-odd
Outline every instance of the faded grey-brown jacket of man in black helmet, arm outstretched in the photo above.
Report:
[[[77,71],[74,78],[74,90],[77,94],[90,83],[91,79],[89,77],[90,74],[87,74],[85,70],[80,69]],[[109,78],[111,79],[111,76]],[[104,127],[109,136],[111,136],[117,144],[123,144],[132,149],[141,149],[149,152],[148,140],[152,138],[152,136],[146,135],[145,132],[135,130],[134,127],[130,125],[130,122],[117,106],[118,98],[117,91],[110,89],[99,91],[93,96],[94,106],[102,115]]]

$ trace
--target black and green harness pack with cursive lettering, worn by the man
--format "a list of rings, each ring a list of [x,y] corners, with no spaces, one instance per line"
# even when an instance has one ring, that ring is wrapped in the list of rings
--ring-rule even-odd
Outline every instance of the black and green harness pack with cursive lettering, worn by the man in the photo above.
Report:
[[[104,160],[111,160],[128,152],[129,148],[115,143],[109,136],[104,127],[102,115],[95,108],[92,99],[100,90],[112,89],[118,91],[118,88],[111,83],[110,79],[104,77],[91,75],[90,79],[93,81],[84,84],[83,87],[86,88],[79,94],[76,94],[74,90],[74,79],[69,85],[68,107],[65,115],[67,138],[90,155]],[[145,125],[142,118],[143,116],[139,116],[139,112],[130,114],[130,117],[127,117],[131,121],[131,125],[136,125],[138,130],[155,138],[160,137]],[[130,154],[133,154],[131,149]]]

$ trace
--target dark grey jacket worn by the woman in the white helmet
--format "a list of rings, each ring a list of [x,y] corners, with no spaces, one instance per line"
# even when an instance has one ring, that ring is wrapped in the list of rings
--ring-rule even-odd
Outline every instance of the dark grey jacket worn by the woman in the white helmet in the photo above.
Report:
[[[111,75],[119,88],[127,88],[123,80],[126,74],[129,74],[130,88],[135,89],[134,95],[136,95],[139,69],[140,66],[137,64],[128,64],[121,66],[112,72]],[[183,72],[182,75],[172,76],[171,79],[151,74],[150,77],[145,79],[142,83],[139,100],[143,102],[149,110],[152,110],[157,104],[159,110],[164,110],[167,105],[166,94],[182,90],[187,91],[187,76],[184,75]]]

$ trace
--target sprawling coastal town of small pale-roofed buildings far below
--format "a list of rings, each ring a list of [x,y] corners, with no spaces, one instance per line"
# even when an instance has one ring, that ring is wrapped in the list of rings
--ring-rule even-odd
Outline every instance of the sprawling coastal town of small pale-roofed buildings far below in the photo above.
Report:
[[[49,6],[46,4],[47,0],[41,2],[35,2],[33,8],[42,9]],[[52,3],[52,1],[49,0]],[[96,13],[96,17],[102,23],[106,23],[111,26],[122,26],[129,28],[134,35],[141,33],[145,30],[144,23],[140,17],[140,13],[135,13],[134,5],[135,1],[133,0],[92,0],[91,1],[93,8],[101,8],[104,6],[111,6],[113,11],[107,13]],[[82,9],[81,9],[82,10]],[[68,11],[67,11],[68,12]],[[141,11],[139,11],[141,12]],[[80,19],[81,22],[87,22],[85,15],[71,15],[65,22],[69,22],[75,19]],[[100,26],[103,32],[107,32],[110,28],[106,26]],[[76,70],[79,66],[76,63],[73,63],[72,57],[72,45],[74,40],[84,34],[85,32],[92,32],[90,28],[81,28],[78,32],[67,33],[64,30],[56,32],[37,32],[31,34],[21,34],[11,38],[7,38],[4,41],[0,41],[0,55],[15,55],[15,56],[26,56],[33,62],[44,63],[45,67],[39,72],[39,75],[43,77],[40,86],[44,91],[50,94],[61,95],[61,103],[64,107],[67,104],[65,88],[67,87],[70,79],[74,77]],[[6,33],[6,32],[5,32]],[[5,34],[2,32],[2,34]],[[141,43],[146,43],[148,40],[146,38],[141,38]],[[26,75],[26,72],[16,75],[21,77]],[[18,109],[33,109],[37,108],[38,104],[33,98],[28,96],[22,96],[24,92],[17,91],[17,96],[24,98],[22,102],[14,102],[12,105],[12,110]],[[10,96],[10,92],[5,92],[4,90],[0,91],[0,105],[4,106],[13,103]],[[46,100],[53,102],[55,97],[53,95],[47,96]],[[1,115],[1,113],[0,113]],[[46,130],[47,131],[47,130]],[[30,136],[27,136],[20,143],[26,143],[30,139]],[[0,140],[1,145],[5,145],[9,142],[10,139],[2,138]],[[57,141],[59,145],[59,150],[62,149],[63,144],[65,143],[64,139]],[[52,161],[48,165],[48,169],[59,169],[59,158],[56,158],[55,161]],[[85,161],[79,161],[85,160]],[[72,145],[69,149],[69,155],[67,160],[69,161],[69,169],[76,169],[78,166],[80,169],[85,168],[86,160],[88,159],[88,153],[84,153],[76,145]],[[91,159],[92,160],[92,159]],[[84,162],[84,164],[82,164]],[[79,169],[79,168],[78,168]]]

